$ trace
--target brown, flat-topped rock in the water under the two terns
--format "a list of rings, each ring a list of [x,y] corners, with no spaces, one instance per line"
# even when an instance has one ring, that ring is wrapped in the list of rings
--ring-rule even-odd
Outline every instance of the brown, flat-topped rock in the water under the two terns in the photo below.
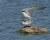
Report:
[[[39,28],[36,26],[22,28],[22,32],[26,33],[48,33],[46,28]]]

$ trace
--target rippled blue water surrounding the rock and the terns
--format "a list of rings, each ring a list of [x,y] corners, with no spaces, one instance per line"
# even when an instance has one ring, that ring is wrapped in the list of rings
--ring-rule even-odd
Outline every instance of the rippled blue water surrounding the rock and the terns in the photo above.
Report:
[[[50,40],[50,34],[21,35],[21,10],[26,7],[44,5],[47,8],[33,14],[38,18],[34,25],[50,29],[50,0],[0,0],[0,40]]]

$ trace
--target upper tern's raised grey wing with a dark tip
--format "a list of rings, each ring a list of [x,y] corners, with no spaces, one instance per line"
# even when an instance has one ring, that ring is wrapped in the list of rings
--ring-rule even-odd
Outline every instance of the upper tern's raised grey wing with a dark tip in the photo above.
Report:
[[[38,10],[42,10],[46,7],[44,6],[38,6],[38,7],[32,7],[32,8],[25,8],[25,12],[26,14],[28,14],[29,16],[32,16],[32,13],[35,12],[35,11],[38,11]]]

